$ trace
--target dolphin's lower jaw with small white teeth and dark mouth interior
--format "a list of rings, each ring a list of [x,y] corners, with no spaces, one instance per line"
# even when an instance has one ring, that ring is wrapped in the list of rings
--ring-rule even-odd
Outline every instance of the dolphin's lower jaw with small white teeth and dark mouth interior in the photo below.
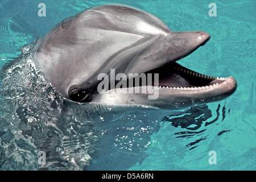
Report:
[[[137,88],[134,87],[132,91],[131,88],[119,88],[103,94],[96,94],[93,102],[109,105],[146,105],[162,109],[183,109],[224,100],[237,89],[237,82],[233,77],[207,76],[177,63],[147,73],[159,73],[159,85],[154,85],[152,82],[152,85],[141,85],[138,90],[154,89],[154,93],[158,94],[156,99],[148,99],[152,93],[135,93]]]

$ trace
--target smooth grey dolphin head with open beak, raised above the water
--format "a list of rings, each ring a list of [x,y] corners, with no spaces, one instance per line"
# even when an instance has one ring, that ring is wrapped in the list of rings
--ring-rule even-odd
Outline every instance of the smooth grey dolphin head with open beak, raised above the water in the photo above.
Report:
[[[106,4],[64,19],[38,40],[34,51],[41,71],[67,100],[181,109],[223,100],[237,88],[233,77],[200,75],[176,63],[209,38],[204,31],[171,31],[156,16],[134,7]],[[158,87],[140,86],[154,88],[158,98],[149,100],[149,92],[113,92],[117,89],[98,93],[97,77],[110,75],[110,69],[127,77],[159,73]]]

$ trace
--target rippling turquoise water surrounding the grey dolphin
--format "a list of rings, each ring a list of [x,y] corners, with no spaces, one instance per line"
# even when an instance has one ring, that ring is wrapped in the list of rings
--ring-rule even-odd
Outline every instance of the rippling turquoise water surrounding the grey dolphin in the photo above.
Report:
[[[64,18],[118,2],[155,14],[173,31],[208,32],[209,42],[179,63],[207,75],[233,76],[238,88],[224,101],[188,110],[108,108],[96,114],[65,107],[50,86],[44,86],[48,94],[32,89],[33,97],[31,90],[13,88],[10,96],[1,94],[0,169],[40,169],[40,150],[51,162],[43,169],[256,169],[256,1],[44,1],[46,17],[39,17],[40,2],[1,1],[1,67]],[[208,15],[210,2],[217,5],[216,17]],[[22,68],[29,69],[26,63]],[[27,78],[18,76],[3,82],[15,86]],[[210,151],[217,164],[209,164]]]

